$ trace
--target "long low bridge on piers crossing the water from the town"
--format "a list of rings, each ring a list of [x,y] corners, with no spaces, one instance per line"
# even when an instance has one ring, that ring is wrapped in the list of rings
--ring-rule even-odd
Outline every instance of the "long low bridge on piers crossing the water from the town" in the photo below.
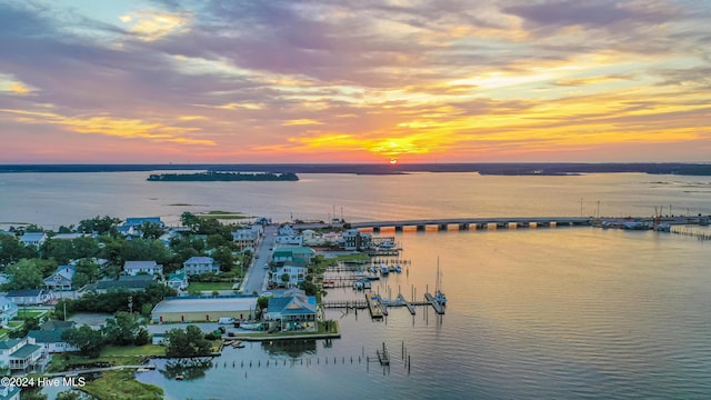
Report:
[[[422,219],[404,221],[362,221],[351,222],[351,228],[372,229],[379,232],[381,229],[394,229],[400,232],[407,228],[414,228],[424,231],[428,227],[438,230],[449,230],[457,227],[459,230],[489,229],[490,227],[501,228],[531,228],[531,227],[582,227],[591,226],[590,217],[490,217],[490,218],[447,218],[447,219]]]

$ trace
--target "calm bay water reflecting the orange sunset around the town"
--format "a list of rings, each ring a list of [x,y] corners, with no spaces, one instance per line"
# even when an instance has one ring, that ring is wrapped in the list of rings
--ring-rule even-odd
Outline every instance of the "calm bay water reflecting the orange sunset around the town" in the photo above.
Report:
[[[209,210],[326,220],[333,212],[340,217],[341,207],[347,220],[651,216],[661,206],[669,213],[670,204],[674,214],[711,213],[708,177],[314,174],[294,183],[144,178],[0,174],[0,223],[56,228],[97,214],[177,221],[182,211]],[[367,312],[329,310],[341,339],[248,343],[226,349],[194,380],[167,379],[160,371],[138,379],[164,388],[167,399],[711,397],[709,241],[594,228],[405,231],[397,241],[411,264],[373,290],[408,298],[417,291],[421,298],[434,284],[439,258],[450,300],[445,316],[391,309],[385,321],[373,322]],[[357,296],[334,289],[328,298]],[[388,370],[365,362],[383,342],[393,359]]]

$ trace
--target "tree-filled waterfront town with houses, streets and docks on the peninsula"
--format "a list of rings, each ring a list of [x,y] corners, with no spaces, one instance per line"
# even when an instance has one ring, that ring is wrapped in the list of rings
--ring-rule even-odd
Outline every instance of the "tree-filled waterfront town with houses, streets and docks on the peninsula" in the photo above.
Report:
[[[321,301],[333,284],[323,281],[327,269],[347,261],[362,270],[371,257],[399,250],[393,238],[349,228],[339,219],[272,223],[213,211],[184,212],[177,227],[107,216],[58,231],[2,230],[0,399],[42,398],[42,379],[78,370],[94,373],[67,389],[101,398],[112,379],[131,373],[113,369],[152,357],[214,356],[247,340],[338,338]],[[382,317],[379,299],[365,298],[372,317]],[[116,357],[123,353],[132,357]],[[139,392],[160,390],[133,382]]]

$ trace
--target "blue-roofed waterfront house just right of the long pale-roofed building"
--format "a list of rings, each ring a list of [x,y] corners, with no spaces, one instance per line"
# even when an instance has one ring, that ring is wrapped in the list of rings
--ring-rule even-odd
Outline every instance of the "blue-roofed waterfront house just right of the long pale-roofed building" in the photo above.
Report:
[[[304,294],[270,298],[264,320],[282,331],[317,330],[316,298]]]

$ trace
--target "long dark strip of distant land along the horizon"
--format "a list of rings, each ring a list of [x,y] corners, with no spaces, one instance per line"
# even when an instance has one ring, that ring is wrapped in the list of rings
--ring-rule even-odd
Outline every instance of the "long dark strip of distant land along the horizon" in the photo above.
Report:
[[[411,172],[477,172],[495,176],[574,176],[583,173],[653,173],[711,176],[711,163],[634,162],[501,162],[501,163],[264,163],[264,164],[0,164],[0,173],[19,172],[152,172],[152,171],[290,172],[407,174]]]

